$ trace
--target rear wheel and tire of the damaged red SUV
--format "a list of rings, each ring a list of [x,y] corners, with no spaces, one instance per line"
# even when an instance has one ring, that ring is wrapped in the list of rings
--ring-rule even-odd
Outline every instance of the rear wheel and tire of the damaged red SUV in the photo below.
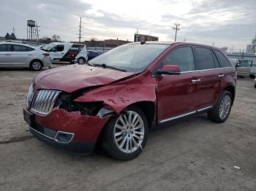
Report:
[[[227,120],[227,117],[230,114],[232,101],[233,96],[231,95],[231,93],[227,90],[224,90],[222,92],[222,95],[220,95],[217,104],[214,106],[214,109],[207,113],[208,118],[212,122],[225,122],[225,120]]]

